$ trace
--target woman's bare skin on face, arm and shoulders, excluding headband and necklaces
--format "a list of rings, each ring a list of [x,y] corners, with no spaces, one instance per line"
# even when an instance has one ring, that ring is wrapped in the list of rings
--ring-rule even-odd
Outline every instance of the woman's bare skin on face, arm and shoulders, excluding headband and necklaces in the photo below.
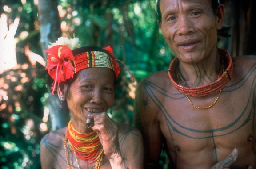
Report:
[[[80,133],[95,131],[103,146],[104,156],[100,169],[140,169],[143,162],[143,145],[140,132],[120,125],[106,113],[114,103],[115,74],[108,68],[88,68],[78,72],[71,84],[61,83],[58,96],[67,101],[73,127]],[[89,114],[89,112],[92,112]],[[92,119],[86,127],[87,118]],[[64,137],[67,128],[51,131],[41,141],[41,164],[43,169],[67,168]],[[86,164],[68,150],[71,166],[91,169],[95,163]],[[90,161],[89,161],[90,162]]]

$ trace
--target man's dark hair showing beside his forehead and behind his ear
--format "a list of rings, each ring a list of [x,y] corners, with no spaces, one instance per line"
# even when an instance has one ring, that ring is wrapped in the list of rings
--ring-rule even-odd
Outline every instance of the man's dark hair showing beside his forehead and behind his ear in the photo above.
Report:
[[[212,4],[212,10],[213,13],[216,15],[217,8],[220,5],[219,0],[211,0]],[[156,13],[157,13],[157,19],[162,22],[162,14],[160,12],[160,0],[158,0],[158,3],[156,4]],[[222,26],[220,30],[218,30],[218,35],[223,37],[230,37],[231,34],[229,34],[229,30],[231,29],[230,26]]]

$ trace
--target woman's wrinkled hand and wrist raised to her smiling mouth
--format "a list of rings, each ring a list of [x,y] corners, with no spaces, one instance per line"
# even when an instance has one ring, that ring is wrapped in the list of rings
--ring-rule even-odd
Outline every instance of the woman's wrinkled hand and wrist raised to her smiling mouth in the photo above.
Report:
[[[92,113],[88,118],[93,119],[91,128],[99,135],[104,154],[108,159],[111,160],[116,154],[120,154],[117,123],[106,112]]]

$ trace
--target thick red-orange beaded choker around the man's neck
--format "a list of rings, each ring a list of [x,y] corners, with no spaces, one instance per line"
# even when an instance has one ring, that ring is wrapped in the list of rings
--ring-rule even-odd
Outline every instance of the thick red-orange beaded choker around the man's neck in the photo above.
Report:
[[[192,96],[192,97],[202,97],[202,96],[208,96],[212,93],[218,92],[224,88],[226,84],[230,81],[230,79],[233,76],[233,63],[232,58],[229,55],[228,51],[223,49],[218,49],[218,52],[222,55],[224,55],[224,60],[228,62],[228,66],[226,69],[224,69],[224,73],[221,74],[220,77],[217,78],[216,81],[213,81],[209,84],[205,84],[203,86],[196,86],[196,87],[184,87],[180,84],[178,84],[173,79],[173,75],[176,75],[176,66],[177,63],[179,63],[179,60],[175,58],[172,63],[169,66],[168,69],[168,75],[169,78],[173,84],[173,86],[181,93],[183,93],[185,96]]]

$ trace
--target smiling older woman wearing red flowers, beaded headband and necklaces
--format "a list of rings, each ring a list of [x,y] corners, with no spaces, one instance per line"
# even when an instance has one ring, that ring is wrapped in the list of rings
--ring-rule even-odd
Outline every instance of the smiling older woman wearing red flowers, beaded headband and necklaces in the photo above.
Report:
[[[72,41],[54,43],[48,53],[48,74],[54,80],[62,106],[66,102],[68,127],[51,131],[41,141],[43,169],[140,169],[142,137],[106,113],[114,102],[120,73],[110,47],[71,50]]]

